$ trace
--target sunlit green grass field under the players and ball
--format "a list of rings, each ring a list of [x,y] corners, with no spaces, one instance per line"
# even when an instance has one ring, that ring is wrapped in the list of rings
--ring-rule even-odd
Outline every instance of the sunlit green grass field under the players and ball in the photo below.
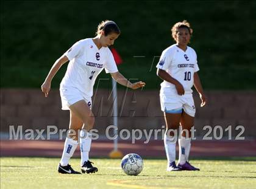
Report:
[[[191,160],[201,171],[167,173],[166,160],[144,159],[138,176],[127,176],[120,160],[91,159],[96,174],[56,171],[59,158],[1,157],[1,188],[255,188],[256,157]],[[70,164],[79,170],[80,159]]]

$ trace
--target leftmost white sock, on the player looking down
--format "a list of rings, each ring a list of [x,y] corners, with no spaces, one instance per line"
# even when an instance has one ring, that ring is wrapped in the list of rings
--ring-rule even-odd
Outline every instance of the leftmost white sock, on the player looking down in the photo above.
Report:
[[[73,156],[77,145],[78,145],[77,140],[69,139],[68,137],[66,137],[64,149],[62,153],[62,159],[60,160],[60,165],[62,166],[68,165],[69,159]]]

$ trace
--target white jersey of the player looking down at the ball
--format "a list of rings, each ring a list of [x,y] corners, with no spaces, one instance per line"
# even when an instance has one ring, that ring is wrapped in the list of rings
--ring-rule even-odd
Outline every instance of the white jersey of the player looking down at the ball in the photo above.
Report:
[[[77,41],[67,52],[69,64],[60,88],[77,88],[88,97],[93,95],[93,85],[97,76],[118,72],[112,52],[108,47],[98,49],[92,38]]]

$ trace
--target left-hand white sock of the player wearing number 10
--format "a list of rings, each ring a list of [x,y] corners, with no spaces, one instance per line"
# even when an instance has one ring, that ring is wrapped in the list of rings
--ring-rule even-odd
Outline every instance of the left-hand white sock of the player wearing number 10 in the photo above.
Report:
[[[176,158],[176,140],[173,136],[167,136],[165,132],[163,141],[165,143],[165,152],[169,165],[169,163],[175,161]]]

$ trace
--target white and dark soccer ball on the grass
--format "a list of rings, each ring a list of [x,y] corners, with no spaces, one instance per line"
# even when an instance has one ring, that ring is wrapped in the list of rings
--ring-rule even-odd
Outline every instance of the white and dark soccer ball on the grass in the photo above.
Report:
[[[121,167],[128,175],[138,175],[143,170],[143,160],[138,154],[127,154],[121,161]]]

